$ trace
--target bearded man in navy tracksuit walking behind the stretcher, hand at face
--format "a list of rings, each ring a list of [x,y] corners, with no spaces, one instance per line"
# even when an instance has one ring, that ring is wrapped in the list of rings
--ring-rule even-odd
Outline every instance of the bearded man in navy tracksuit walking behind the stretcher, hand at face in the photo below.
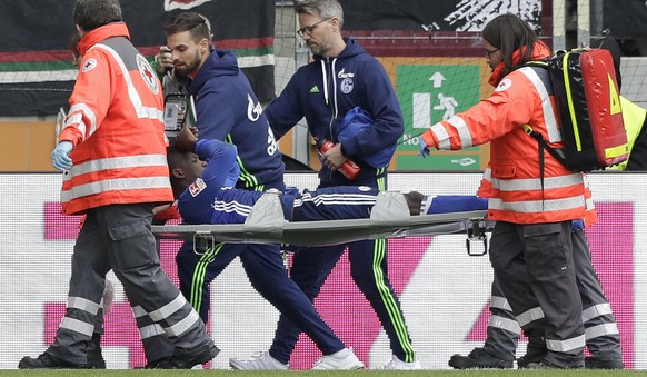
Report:
[[[280,151],[236,56],[229,50],[213,49],[209,23],[199,13],[180,13],[165,23],[163,31],[167,49],[160,49],[156,57],[158,72],[171,68],[171,61],[176,78],[186,80],[186,90],[196,102],[200,139],[222,140],[237,147],[240,175],[231,183],[253,191],[283,190]],[[185,242],[176,257],[180,290],[202,320],[209,319],[209,284],[236,257],[240,257],[256,290],[297,323],[319,347],[324,357],[315,369],[364,368],[287,276],[278,245],[219,244],[198,255],[192,242]]]

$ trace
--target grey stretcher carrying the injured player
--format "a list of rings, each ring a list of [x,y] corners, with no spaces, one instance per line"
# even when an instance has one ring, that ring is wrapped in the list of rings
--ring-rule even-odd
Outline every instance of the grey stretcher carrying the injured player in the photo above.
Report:
[[[193,240],[202,246],[217,242],[330,246],[366,239],[467,234],[468,254],[482,255],[487,252],[486,231],[494,227],[486,215],[486,210],[472,210],[411,216],[401,195],[380,192],[369,218],[290,222],[283,219],[278,196],[267,194],[245,224],[165,225],[153,226],[152,232],[158,239]],[[471,252],[474,241],[482,241],[482,254]]]

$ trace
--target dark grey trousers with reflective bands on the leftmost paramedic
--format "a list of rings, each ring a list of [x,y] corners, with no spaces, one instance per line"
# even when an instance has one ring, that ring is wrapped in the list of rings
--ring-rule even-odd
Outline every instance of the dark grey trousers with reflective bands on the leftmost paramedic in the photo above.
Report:
[[[68,309],[47,353],[69,363],[86,364],[86,348],[94,331],[110,269],[131,304],[152,314],[155,325],[172,347],[212,345],[202,320],[160,269],[150,229],[152,205],[111,205],[87,215],[72,255]]]

